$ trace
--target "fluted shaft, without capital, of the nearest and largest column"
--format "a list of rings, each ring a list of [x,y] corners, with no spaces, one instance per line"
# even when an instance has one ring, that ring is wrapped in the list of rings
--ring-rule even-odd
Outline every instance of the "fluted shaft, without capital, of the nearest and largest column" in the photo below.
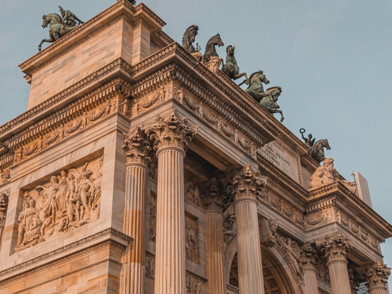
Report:
[[[185,293],[183,149],[163,147],[158,157],[155,294]]]

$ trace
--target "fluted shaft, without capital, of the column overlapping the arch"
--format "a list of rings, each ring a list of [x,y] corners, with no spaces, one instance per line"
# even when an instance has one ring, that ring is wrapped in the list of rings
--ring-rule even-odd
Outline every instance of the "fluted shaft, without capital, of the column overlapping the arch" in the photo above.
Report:
[[[240,198],[234,202],[240,294],[264,294],[257,204],[254,198]]]

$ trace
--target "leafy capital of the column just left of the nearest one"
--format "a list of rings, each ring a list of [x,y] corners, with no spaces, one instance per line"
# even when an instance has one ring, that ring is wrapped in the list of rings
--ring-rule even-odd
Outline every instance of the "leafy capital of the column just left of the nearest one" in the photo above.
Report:
[[[147,165],[150,162],[151,152],[150,141],[143,137],[143,132],[139,127],[131,133],[123,133],[123,149],[127,151],[127,163],[141,163]]]

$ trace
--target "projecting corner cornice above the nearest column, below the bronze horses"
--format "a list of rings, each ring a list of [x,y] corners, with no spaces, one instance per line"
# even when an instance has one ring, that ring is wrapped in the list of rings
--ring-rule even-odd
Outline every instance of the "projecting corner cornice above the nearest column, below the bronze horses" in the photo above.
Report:
[[[137,81],[134,85],[135,88],[141,87],[143,83],[148,82],[149,79],[144,78],[156,71],[154,64],[158,62],[160,68],[172,64],[174,79],[180,81],[182,78],[185,78],[189,80],[197,87],[197,89],[192,89],[195,95],[205,94],[224,107],[233,118],[242,122],[244,126],[255,132],[261,132],[264,137],[264,143],[265,141],[274,140],[281,134],[276,127],[276,119],[270,113],[249,97],[241,88],[234,89],[227,80],[214,75],[178,43],[173,43],[163,48],[134,66],[132,80]],[[186,85],[184,86],[186,87]],[[234,126],[236,126],[235,123]]]

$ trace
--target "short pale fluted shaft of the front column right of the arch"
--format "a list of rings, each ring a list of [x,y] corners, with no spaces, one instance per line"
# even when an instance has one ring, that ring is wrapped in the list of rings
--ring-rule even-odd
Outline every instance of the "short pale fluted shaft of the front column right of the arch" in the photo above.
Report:
[[[332,294],[351,293],[350,280],[348,279],[347,260],[332,259],[327,262],[331,279]]]

